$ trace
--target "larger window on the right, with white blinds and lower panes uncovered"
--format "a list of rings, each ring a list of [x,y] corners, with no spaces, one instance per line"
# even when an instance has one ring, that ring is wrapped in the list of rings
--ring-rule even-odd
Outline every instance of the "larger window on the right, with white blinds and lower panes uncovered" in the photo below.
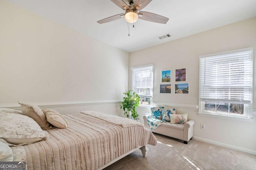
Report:
[[[199,113],[251,118],[252,48],[200,57]]]

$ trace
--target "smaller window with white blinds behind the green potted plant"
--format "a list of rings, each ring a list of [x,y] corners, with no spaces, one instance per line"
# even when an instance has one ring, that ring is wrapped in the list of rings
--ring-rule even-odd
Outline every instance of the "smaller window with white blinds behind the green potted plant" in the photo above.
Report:
[[[140,96],[141,105],[152,104],[153,66],[132,68],[132,90]]]

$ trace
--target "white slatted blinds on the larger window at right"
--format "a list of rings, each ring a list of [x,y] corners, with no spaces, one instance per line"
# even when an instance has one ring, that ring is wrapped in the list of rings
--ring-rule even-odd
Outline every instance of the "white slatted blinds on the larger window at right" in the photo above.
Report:
[[[252,102],[252,48],[200,58],[201,102]]]

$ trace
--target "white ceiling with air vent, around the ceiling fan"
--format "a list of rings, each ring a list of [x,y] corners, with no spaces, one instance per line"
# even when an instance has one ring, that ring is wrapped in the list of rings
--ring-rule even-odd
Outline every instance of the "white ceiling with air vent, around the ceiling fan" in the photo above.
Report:
[[[169,21],[160,24],[138,20],[135,29],[130,26],[128,37],[124,18],[103,24],[96,22],[124,13],[110,0],[8,1],[127,52],[256,16],[256,0],[152,0],[142,11],[165,16]],[[172,37],[157,38],[166,33]]]

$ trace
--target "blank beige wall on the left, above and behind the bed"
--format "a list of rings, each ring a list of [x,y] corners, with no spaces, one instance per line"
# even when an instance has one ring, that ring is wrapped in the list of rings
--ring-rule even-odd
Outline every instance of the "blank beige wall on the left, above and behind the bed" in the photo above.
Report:
[[[122,100],[128,88],[127,52],[4,0],[0,25],[1,106]],[[112,111],[115,104],[106,109]]]

